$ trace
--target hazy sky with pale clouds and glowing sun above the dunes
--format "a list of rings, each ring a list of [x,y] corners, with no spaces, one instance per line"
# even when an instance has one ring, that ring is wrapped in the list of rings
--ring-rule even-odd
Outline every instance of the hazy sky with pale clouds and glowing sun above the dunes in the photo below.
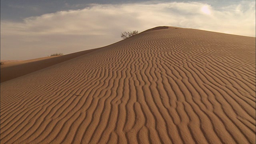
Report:
[[[255,0],[1,0],[0,59],[70,54],[176,26],[255,37]]]

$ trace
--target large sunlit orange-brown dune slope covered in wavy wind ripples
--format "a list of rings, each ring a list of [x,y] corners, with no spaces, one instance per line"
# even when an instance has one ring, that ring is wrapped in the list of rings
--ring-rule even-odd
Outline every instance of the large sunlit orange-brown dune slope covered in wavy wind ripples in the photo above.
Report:
[[[2,82],[1,144],[254,144],[255,55],[253,37],[144,31]]]

